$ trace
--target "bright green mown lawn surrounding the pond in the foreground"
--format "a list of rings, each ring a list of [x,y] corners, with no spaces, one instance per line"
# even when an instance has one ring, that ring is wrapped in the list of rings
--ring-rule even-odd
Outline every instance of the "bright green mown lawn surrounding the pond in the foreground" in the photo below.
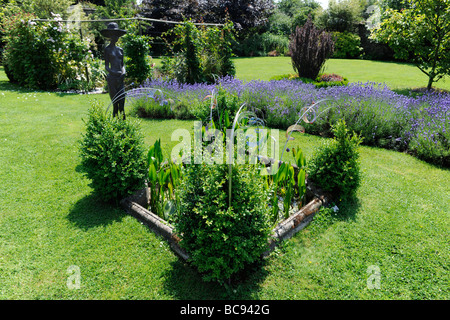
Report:
[[[165,241],[92,193],[77,141],[94,99],[109,103],[107,95],[19,90],[0,68],[0,299],[450,298],[449,170],[361,147],[358,201],[318,214],[231,290],[203,282]],[[161,138],[167,154],[172,130],[192,122],[141,127],[146,144]],[[323,142],[294,137],[307,157]],[[74,265],[80,289],[67,286]],[[367,285],[373,266],[379,289]]]

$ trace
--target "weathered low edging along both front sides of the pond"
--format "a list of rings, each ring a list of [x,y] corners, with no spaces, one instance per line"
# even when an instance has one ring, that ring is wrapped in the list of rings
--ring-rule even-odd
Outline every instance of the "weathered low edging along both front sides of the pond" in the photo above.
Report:
[[[312,220],[319,209],[329,203],[329,197],[311,182],[306,184],[306,199],[310,199],[305,206],[297,212],[291,214],[288,218],[279,222],[272,230],[269,239],[268,250],[264,256],[270,252],[282,241],[294,236],[297,232],[305,228]],[[146,209],[150,203],[150,188],[138,190],[133,195],[123,199],[121,206],[132,216],[145,223],[153,232],[166,239],[172,250],[183,260],[189,260],[189,254],[180,246],[180,237],[174,232],[174,227],[166,220],[155,213]]]

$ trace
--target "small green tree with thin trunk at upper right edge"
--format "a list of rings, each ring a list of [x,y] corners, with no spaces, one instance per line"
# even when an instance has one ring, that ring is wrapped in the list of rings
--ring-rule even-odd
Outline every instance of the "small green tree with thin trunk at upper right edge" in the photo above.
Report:
[[[388,9],[371,37],[387,43],[395,58],[411,60],[428,76],[427,89],[450,73],[450,2],[408,0],[409,8]]]

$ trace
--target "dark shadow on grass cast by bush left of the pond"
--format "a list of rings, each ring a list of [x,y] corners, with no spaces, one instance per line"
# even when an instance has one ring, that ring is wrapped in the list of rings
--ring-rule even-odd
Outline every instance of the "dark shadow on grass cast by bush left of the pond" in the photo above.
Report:
[[[121,221],[125,216],[125,211],[119,206],[105,203],[92,193],[73,205],[67,219],[78,228],[89,230]]]

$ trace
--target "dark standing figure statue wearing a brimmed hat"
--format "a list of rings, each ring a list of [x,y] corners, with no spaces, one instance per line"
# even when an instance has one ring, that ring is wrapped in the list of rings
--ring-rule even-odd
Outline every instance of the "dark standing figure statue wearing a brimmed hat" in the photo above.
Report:
[[[101,34],[105,38],[110,39],[109,45],[105,48],[105,69],[108,71],[106,81],[108,82],[109,96],[113,103],[113,116],[119,112],[123,114],[125,119],[125,66],[123,63],[123,49],[116,47],[119,37],[123,36],[126,31],[120,30],[115,22],[108,24],[107,29],[101,30]]]

